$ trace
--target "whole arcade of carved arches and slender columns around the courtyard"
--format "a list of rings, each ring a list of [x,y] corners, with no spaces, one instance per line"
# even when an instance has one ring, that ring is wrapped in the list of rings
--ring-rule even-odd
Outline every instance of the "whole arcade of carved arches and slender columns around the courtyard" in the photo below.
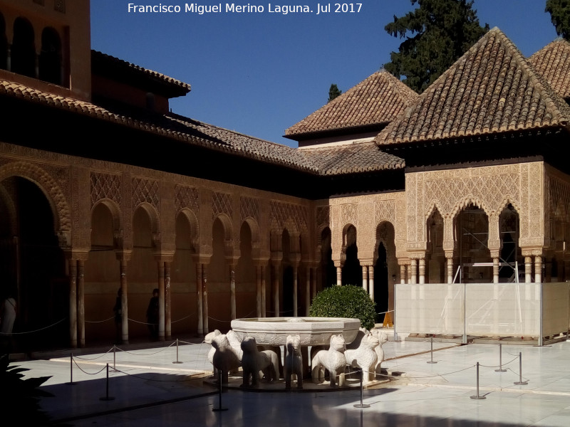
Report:
[[[330,285],[362,285],[382,313],[396,283],[567,277],[570,179],[542,162],[408,173],[405,191],[310,201],[0,145],[3,290],[18,295],[20,330],[56,325],[49,336],[72,345],[147,337],[154,288],[165,339],[307,315]]]

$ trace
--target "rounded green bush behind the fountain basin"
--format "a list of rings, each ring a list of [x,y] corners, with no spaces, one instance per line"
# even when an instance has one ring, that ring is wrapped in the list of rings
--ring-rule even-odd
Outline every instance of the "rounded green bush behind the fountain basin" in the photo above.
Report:
[[[360,286],[332,286],[318,292],[311,304],[313,317],[349,317],[361,320],[361,327],[371,330],[375,320],[375,302]]]

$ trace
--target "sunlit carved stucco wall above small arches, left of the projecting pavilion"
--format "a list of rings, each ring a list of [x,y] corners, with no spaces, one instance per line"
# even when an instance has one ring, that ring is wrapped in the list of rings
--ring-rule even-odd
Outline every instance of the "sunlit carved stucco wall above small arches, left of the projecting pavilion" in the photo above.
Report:
[[[405,192],[366,194],[321,201],[316,206],[318,236],[326,226],[331,228],[333,260],[341,260],[343,233],[348,225],[356,227],[358,259],[372,262],[375,253],[376,230],[383,222],[389,222],[395,231],[396,256],[405,253]]]

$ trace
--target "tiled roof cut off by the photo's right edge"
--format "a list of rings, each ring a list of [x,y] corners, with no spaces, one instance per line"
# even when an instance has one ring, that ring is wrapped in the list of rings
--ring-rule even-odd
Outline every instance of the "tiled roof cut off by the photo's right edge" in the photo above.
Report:
[[[529,58],[552,89],[563,98],[570,97],[570,43],[555,40]]]

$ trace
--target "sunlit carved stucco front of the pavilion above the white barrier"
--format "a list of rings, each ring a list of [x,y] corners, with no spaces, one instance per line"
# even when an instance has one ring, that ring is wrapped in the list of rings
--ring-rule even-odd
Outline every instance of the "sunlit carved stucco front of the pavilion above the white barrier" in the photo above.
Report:
[[[499,214],[512,204],[519,214],[522,248],[544,246],[544,164],[529,162],[406,174],[410,252],[425,251],[426,221],[437,209],[444,220],[445,251],[455,247],[453,220],[474,204],[489,218],[489,248],[499,248]]]

